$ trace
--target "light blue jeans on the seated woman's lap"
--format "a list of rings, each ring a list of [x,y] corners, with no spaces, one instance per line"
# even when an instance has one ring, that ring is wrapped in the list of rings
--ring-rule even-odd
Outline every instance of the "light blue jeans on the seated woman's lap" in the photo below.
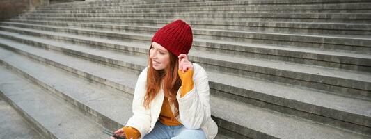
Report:
[[[155,128],[143,137],[144,139],[189,139],[198,138],[205,139],[205,133],[201,129],[191,130],[185,128],[182,124],[179,126],[166,126],[161,122],[157,121]]]

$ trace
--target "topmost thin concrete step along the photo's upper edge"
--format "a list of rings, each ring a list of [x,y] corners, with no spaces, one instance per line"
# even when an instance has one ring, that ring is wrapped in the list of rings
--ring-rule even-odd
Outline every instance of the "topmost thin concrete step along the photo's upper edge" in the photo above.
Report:
[[[104,7],[104,6],[120,6],[122,8],[152,8],[152,7],[191,7],[191,6],[259,6],[259,5],[313,5],[313,4],[328,4],[328,3],[361,3],[370,2],[368,0],[326,0],[326,1],[102,1],[102,3],[67,3],[65,5],[50,5],[42,6],[37,9],[72,9],[72,8],[86,8],[86,7]]]

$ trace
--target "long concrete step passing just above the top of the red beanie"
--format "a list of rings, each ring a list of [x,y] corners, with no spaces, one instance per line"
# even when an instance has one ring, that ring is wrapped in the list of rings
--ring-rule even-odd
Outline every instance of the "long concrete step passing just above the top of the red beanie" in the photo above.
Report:
[[[104,16],[102,16],[104,15]],[[261,17],[260,17],[261,16]],[[277,16],[276,18],[274,18]],[[326,17],[329,18],[318,18],[318,17]],[[354,14],[353,16],[344,15],[344,14],[337,14],[331,15],[329,14],[317,14],[317,15],[310,15],[310,14],[293,14],[290,13],[265,13],[263,16],[259,15],[259,13],[184,13],[184,14],[173,14],[173,13],[163,13],[163,14],[132,14],[132,13],[124,13],[120,15],[110,15],[110,14],[99,14],[99,15],[90,15],[90,14],[76,14],[74,17],[85,17],[86,19],[89,18],[96,18],[96,17],[113,17],[117,19],[128,19],[128,18],[138,18],[138,19],[205,19],[205,20],[235,20],[240,22],[332,22],[332,23],[370,23],[371,15],[369,14]],[[26,19],[31,17],[31,15],[19,15],[17,18],[19,19]],[[51,15],[45,16],[35,16],[34,19],[48,19],[53,18]],[[63,18],[70,17],[69,15],[65,15]],[[353,17],[361,17],[360,19],[354,20]],[[54,17],[55,18],[55,17]]]

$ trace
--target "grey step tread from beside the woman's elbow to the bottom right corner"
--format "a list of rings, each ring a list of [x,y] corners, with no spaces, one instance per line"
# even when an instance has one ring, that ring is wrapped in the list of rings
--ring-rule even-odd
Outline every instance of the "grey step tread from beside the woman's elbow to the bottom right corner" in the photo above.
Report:
[[[217,106],[216,111],[228,110],[230,112],[221,117],[223,120],[217,119],[216,122],[224,124],[224,119],[226,119],[237,123],[237,125],[228,126],[228,131],[239,133],[235,138],[242,138],[242,135],[248,135],[250,138],[370,138],[369,136],[349,135],[347,131],[335,131],[331,127],[318,127],[314,123],[310,125],[305,120],[286,117],[287,115],[281,117],[273,113],[264,113],[262,112],[264,110],[260,108],[255,109],[228,98],[210,98],[210,103]],[[244,126],[253,126],[261,132],[245,131]]]

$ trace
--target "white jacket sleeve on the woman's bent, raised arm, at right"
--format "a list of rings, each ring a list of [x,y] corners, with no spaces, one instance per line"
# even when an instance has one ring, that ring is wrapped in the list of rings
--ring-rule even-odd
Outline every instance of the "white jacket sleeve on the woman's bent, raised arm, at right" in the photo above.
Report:
[[[181,90],[177,92],[179,116],[187,129],[200,129],[211,115],[209,80],[206,71],[200,65],[194,64],[193,80],[194,87],[186,95],[180,97]]]

